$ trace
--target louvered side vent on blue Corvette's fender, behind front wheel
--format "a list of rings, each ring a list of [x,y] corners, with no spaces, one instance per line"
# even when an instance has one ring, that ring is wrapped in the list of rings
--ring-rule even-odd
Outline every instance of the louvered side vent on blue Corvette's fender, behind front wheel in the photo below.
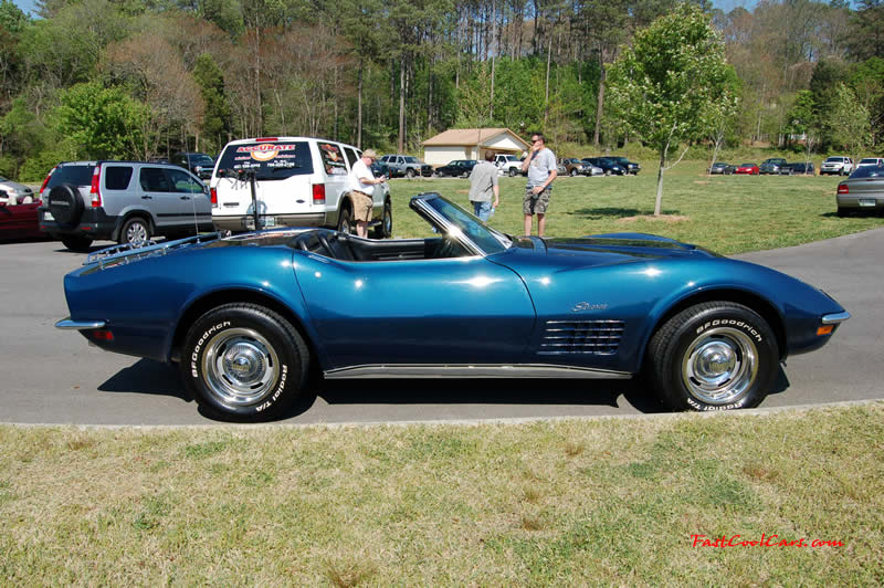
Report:
[[[547,321],[538,354],[613,355],[623,327],[623,321]]]

